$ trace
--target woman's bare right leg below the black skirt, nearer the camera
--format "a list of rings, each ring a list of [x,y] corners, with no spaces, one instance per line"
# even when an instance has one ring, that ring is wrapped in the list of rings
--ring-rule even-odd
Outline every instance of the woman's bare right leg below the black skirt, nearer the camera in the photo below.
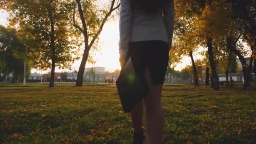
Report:
[[[164,127],[164,117],[161,106],[162,87],[163,85],[153,85],[152,88],[150,88],[149,96],[144,99],[147,144],[162,143]]]

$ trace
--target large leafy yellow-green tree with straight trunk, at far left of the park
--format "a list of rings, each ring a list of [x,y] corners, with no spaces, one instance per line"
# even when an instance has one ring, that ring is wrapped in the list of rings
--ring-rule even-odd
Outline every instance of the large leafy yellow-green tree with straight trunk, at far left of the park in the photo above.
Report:
[[[28,47],[33,67],[51,68],[49,87],[54,85],[55,67],[70,68],[78,59],[75,48],[77,33],[73,30],[72,1],[5,0],[3,8],[10,13],[10,27],[17,27],[17,35]]]

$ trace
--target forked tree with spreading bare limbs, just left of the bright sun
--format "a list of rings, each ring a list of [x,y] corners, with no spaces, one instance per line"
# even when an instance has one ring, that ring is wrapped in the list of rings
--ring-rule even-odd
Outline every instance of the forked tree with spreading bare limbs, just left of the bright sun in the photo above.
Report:
[[[76,8],[73,13],[73,24],[83,34],[84,46],[85,46],[83,57],[82,57],[81,64],[77,74],[77,80],[76,80],[76,86],[82,86],[83,74],[85,70],[85,64],[88,60],[89,51],[92,48],[94,42],[98,39],[99,34],[101,33],[107,19],[109,18],[111,13],[120,6],[120,3],[115,6],[117,0],[111,0],[109,10],[108,11],[102,10],[102,13],[104,13],[102,17],[103,19],[99,20],[98,15],[96,13],[97,10],[95,9],[95,5],[93,6],[94,0],[82,1],[83,7],[81,4],[81,0],[75,0],[75,1],[77,2],[80,21],[82,23],[82,28],[78,24],[76,24],[76,21],[75,21]],[[96,23],[94,23],[95,21]]]

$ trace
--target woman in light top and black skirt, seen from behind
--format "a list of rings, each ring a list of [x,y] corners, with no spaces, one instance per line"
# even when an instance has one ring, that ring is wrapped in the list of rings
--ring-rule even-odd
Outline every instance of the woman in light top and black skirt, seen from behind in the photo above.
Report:
[[[152,85],[144,99],[147,144],[161,144],[164,117],[161,91],[173,37],[174,0],[121,0],[120,64],[131,57],[136,77],[149,69]],[[133,143],[144,141],[142,130],[143,101],[131,110]]]

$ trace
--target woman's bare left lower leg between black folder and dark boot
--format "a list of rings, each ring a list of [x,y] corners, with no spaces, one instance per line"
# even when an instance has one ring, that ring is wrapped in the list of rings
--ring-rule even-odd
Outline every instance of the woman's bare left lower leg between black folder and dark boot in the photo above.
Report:
[[[143,102],[139,102],[132,110],[131,110],[131,119],[133,123],[134,132],[142,131],[142,115],[143,115]]]

